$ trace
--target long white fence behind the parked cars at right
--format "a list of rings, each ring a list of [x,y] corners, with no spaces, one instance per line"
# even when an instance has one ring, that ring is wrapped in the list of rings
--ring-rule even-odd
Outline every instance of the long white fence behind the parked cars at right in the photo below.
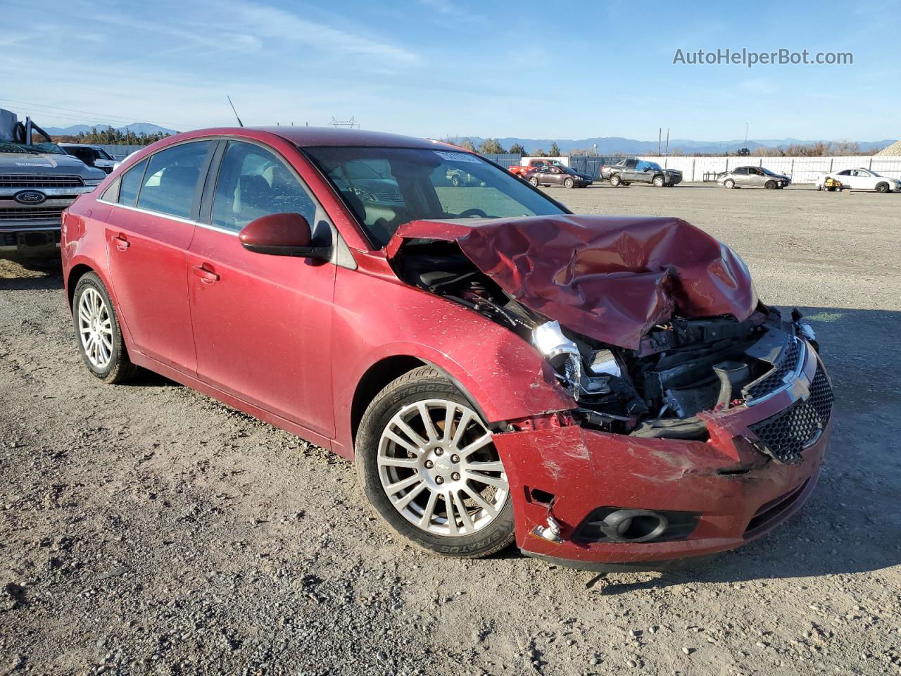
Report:
[[[871,169],[889,178],[901,178],[901,157],[850,155],[835,157],[643,157],[667,169],[678,169],[682,180],[714,180],[736,167],[766,167],[791,177],[793,183],[815,183],[821,174],[842,169]]]

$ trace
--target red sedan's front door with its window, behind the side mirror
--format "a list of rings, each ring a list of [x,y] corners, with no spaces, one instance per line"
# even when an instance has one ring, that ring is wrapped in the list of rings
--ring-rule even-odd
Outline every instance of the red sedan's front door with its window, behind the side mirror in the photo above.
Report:
[[[250,221],[287,212],[305,217],[314,241],[336,236],[284,158],[267,146],[229,141],[207,181],[188,252],[197,375],[331,437],[334,265],[254,253],[238,239]]]

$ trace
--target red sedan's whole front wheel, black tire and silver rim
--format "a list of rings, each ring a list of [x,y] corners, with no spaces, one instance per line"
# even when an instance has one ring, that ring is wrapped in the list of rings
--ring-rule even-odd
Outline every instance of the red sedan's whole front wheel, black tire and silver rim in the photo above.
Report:
[[[446,434],[442,425],[449,410],[452,433]],[[464,455],[467,449],[472,450]],[[513,500],[490,431],[460,390],[431,366],[406,373],[378,393],[363,414],[355,451],[369,504],[410,543],[479,558],[514,541]],[[475,470],[476,462],[485,464]]]

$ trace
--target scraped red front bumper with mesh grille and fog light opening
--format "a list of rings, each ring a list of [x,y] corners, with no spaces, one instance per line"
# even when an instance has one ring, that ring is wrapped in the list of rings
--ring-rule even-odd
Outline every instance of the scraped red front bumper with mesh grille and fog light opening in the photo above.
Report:
[[[517,545],[589,570],[659,570],[769,533],[814,489],[831,427],[814,349],[786,380],[752,406],[699,414],[705,442],[579,425],[496,434]]]

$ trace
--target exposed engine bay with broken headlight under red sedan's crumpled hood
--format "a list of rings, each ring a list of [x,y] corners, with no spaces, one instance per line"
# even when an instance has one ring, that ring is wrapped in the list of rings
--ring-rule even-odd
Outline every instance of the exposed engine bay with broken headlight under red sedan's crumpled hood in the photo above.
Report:
[[[460,251],[411,240],[393,265],[407,283],[487,316],[534,345],[578,402],[579,424],[616,434],[707,438],[703,411],[752,406],[783,385],[807,343],[800,314],[758,303],[747,318],[680,316],[654,324],[637,349],[571,331],[530,309]]]

